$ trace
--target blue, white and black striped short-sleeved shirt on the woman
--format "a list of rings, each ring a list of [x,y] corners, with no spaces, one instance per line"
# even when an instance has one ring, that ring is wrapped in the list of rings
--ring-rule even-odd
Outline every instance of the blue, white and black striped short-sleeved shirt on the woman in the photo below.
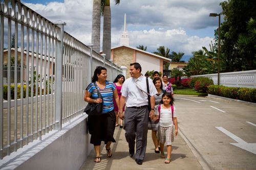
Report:
[[[101,89],[97,86],[100,94],[102,95],[103,98],[103,109],[102,113],[108,113],[112,110],[114,110],[114,103],[113,103],[113,94],[115,90],[115,85],[111,81],[106,81],[105,82],[105,88]],[[92,93],[91,98],[92,99],[98,99],[98,94],[97,94],[97,89],[94,86],[94,83],[89,84],[89,86],[86,88],[90,93]]]

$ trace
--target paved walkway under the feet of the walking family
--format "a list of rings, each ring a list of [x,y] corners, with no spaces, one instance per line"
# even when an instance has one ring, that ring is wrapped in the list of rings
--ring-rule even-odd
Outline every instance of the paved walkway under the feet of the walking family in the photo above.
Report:
[[[202,166],[198,162],[197,158],[188,148],[181,135],[175,137],[172,151],[172,162],[169,164],[164,163],[164,159],[160,158],[160,154],[154,152],[154,144],[151,138],[151,131],[148,131],[147,135],[147,149],[146,156],[142,165],[138,165],[135,162],[134,157],[130,158],[128,144],[125,140],[124,130],[116,127],[114,137],[116,143],[112,143],[111,148],[113,156],[108,158],[106,156],[105,146],[101,144],[101,162],[95,163],[94,150],[91,151],[88,158],[84,161],[80,170],[83,169],[111,169],[111,170],[129,170],[129,169],[202,169]],[[166,148],[165,148],[166,153]]]

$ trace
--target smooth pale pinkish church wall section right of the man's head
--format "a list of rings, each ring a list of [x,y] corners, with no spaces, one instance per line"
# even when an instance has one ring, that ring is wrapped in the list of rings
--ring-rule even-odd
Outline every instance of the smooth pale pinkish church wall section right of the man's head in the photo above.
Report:
[[[146,73],[147,70],[152,71],[154,69],[155,71],[161,71],[160,60],[155,57],[137,52],[136,62],[140,63],[142,68],[141,74],[143,75]]]

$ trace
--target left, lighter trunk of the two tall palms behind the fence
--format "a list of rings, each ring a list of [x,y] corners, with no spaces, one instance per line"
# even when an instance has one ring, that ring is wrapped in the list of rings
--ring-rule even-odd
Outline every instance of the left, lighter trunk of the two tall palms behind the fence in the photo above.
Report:
[[[101,0],[93,0],[92,44],[93,50],[97,53],[100,49],[100,7]]]

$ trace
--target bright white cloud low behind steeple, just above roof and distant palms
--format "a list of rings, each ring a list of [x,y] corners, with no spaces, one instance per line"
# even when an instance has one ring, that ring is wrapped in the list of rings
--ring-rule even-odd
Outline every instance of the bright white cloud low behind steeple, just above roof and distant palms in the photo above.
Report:
[[[121,32],[112,35],[112,45],[119,45]],[[183,52],[190,55],[191,52],[199,50],[202,46],[208,46],[209,42],[213,39],[210,37],[200,38],[198,36],[188,36],[186,32],[180,29],[173,30],[141,30],[129,32],[130,45],[147,46],[148,52],[154,52],[161,45],[165,48],[170,48],[170,51]]]

